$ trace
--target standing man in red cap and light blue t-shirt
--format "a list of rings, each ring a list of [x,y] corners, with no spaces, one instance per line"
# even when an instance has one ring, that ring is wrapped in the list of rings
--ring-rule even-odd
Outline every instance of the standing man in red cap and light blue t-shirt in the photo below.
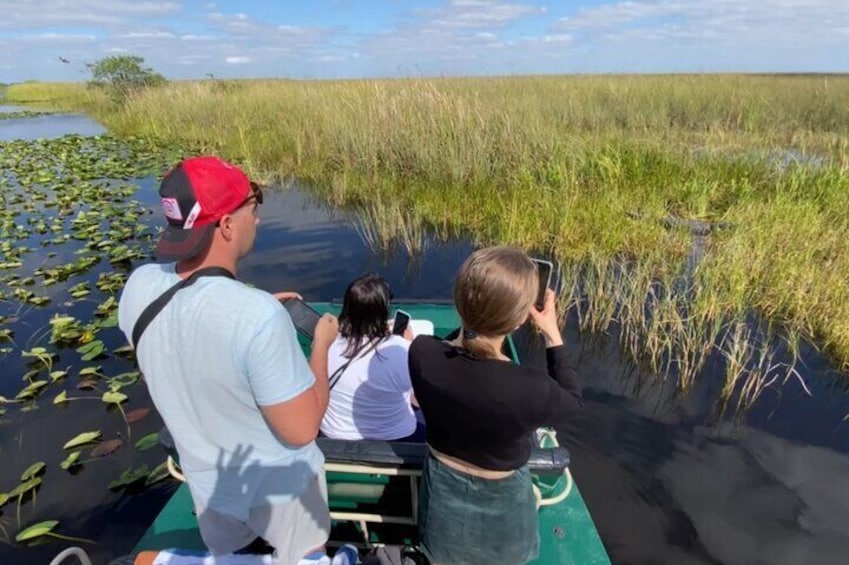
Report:
[[[118,318],[174,437],[201,535],[215,554],[261,537],[279,563],[316,562],[308,554],[327,541],[330,517],[313,440],[336,320],[319,322],[307,364],[285,293],[235,280],[263,199],[239,168],[186,159],[159,194],[168,226],[156,257],[170,262],[133,272]]]

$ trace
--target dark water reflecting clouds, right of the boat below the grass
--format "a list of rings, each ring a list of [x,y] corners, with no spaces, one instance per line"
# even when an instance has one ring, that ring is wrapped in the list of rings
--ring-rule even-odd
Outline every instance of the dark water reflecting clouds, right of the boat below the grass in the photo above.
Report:
[[[615,338],[568,343],[587,406],[558,430],[614,563],[838,563],[849,547],[849,396],[813,347],[744,425],[714,422],[718,360],[687,396],[623,362]],[[537,363],[541,359],[537,359]]]

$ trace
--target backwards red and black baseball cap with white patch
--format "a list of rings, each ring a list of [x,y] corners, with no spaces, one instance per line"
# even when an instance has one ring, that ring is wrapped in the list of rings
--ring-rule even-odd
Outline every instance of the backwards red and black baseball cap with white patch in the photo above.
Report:
[[[202,253],[212,240],[216,222],[259,194],[259,186],[241,169],[218,157],[182,161],[159,186],[168,226],[156,246],[156,258],[190,259]],[[260,203],[261,198],[257,196]]]

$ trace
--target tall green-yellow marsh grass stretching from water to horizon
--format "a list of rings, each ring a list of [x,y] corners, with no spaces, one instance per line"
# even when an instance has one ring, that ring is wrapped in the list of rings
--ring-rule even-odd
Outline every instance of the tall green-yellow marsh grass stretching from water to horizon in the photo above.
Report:
[[[33,96],[22,88],[9,98]],[[415,248],[427,224],[550,249],[582,328],[616,322],[634,358],[682,389],[718,351],[726,401],[750,403],[774,382],[775,343],[799,339],[849,368],[849,77],[198,81],[120,107],[53,96],[121,134],[310,179],[369,209],[378,244]],[[669,218],[731,227],[699,240],[695,261]]]

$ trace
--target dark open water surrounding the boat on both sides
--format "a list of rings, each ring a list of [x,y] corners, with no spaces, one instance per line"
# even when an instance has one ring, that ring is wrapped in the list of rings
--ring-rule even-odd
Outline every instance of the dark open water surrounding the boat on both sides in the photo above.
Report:
[[[136,197],[153,206],[153,180],[140,186]],[[471,250],[469,242],[452,241],[431,242],[415,260],[400,247],[374,252],[359,237],[354,216],[297,189],[271,194],[261,215],[255,251],[239,277],[269,291],[297,290],[308,300],[340,297],[347,282],[367,270],[387,277],[395,296],[448,298],[454,273]],[[35,332],[51,311],[32,312]],[[573,326],[567,327],[568,343],[587,387],[587,406],[559,435],[572,450],[577,484],[615,563],[846,562],[849,422],[843,419],[849,396],[833,386],[837,375],[815,351],[804,352],[800,370],[812,398],[790,382],[767,391],[744,425],[716,425],[718,366],[692,394],[677,398],[662,382],[631,376],[615,339],[591,345]],[[109,345],[120,345],[119,336]],[[98,361],[104,371],[108,362]],[[0,394],[14,395],[25,370],[23,360],[3,359]],[[127,410],[150,406],[143,387],[130,396]],[[78,431],[125,433],[120,415],[97,402],[67,408],[42,402],[38,410],[6,419],[0,425],[0,491],[32,461],[55,466],[57,450]],[[160,425],[155,416],[133,424],[133,438]],[[161,458],[158,450],[122,449],[76,476],[51,468],[45,478],[50,489],[39,492],[36,511],[26,510],[24,522],[57,519],[58,531],[96,539],[87,549],[98,563],[126,553],[174,487],[118,494],[105,485],[130,465],[152,467]],[[17,531],[14,505],[6,505],[0,524],[12,535]],[[0,544],[0,563],[46,563],[63,547],[58,540],[31,548]]]

